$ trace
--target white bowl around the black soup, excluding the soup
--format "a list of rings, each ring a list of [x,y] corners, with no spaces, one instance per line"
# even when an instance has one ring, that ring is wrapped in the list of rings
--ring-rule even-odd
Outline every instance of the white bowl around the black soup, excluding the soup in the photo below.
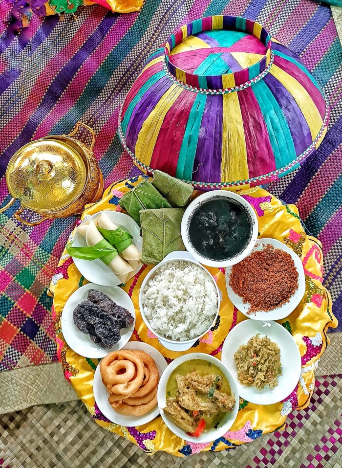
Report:
[[[197,250],[195,250],[192,243],[190,242],[190,237],[189,237],[189,225],[190,225],[194,212],[199,208],[199,205],[201,205],[203,202],[209,201],[210,199],[214,199],[214,198],[228,198],[228,199],[235,201],[235,203],[237,203],[238,205],[242,207],[242,209],[248,215],[252,223],[252,235],[246,247],[234,257],[225,259],[225,260],[220,260],[220,261],[211,260],[210,258],[203,257]],[[254,247],[256,243],[257,233],[258,233],[258,222],[257,222],[255,211],[252,208],[252,206],[248,203],[248,201],[246,201],[240,195],[237,195],[235,192],[229,192],[227,190],[214,190],[212,192],[204,193],[200,195],[199,197],[195,198],[192,201],[192,203],[190,203],[188,208],[185,210],[185,213],[182,218],[182,223],[181,223],[181,235],[182,235],[182,240],[185,245],[185,248],[188,250],[188,252],[192,253],[193,257],[196,260],[198,260],[203,265],[207,265],[208,267],[224,268],[224,267],[229,267],[231,265],[235,265],[236,263],[241,262],[241,260],[247,257],[247,255],[249,255],[250,252],[252,251],[252,248]],[[227,239],[227,242],[231,242],[231,241]]]

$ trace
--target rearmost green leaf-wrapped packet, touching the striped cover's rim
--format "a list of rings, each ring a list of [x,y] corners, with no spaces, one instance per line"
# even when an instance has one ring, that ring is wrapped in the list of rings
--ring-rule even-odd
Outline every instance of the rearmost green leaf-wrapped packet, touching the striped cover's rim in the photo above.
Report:
[[[193,192],[192,185],[158,170],[153,172],[152,185],[176,207],[185,206]]]

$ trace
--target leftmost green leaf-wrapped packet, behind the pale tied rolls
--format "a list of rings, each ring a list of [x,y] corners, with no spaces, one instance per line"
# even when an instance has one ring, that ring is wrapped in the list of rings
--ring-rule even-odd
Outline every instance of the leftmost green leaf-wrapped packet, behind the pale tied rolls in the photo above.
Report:
[[[132,190],[126,193],[119,201],[129,216],[133,218],[140,226],[140,210],[148,208],[171,208],[167,201],[158,190],[148,180],[138,183]]]

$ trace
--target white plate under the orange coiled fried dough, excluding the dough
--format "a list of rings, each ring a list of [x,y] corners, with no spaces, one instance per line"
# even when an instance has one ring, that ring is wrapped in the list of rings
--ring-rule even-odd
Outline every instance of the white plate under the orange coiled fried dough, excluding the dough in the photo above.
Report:
[[[159,372],[159,379],[161,378],[163,372],[167,368],[167,363],[164,357],[157,351],[155,348],[150,346],[147,343],[142,343],[141,341],[130,341],[124,347],[124,349],[136,349],[145,351],[148,353],[156,363]],[[121,424],[123,426],[139,426],[140,424],[146,424],[156,418],[159,414],[158,405],[155,405],[148,413],[143,416],[125,416],[123,414],[117,413],[112,406],[109,404],[108,397],[109,393],[107,387],[102,383],[100,365],[97,366],[94,381],[93,381],[93,390],[94,398],[96,404],[100,408],[100,411],[109,419],[112,423]]]

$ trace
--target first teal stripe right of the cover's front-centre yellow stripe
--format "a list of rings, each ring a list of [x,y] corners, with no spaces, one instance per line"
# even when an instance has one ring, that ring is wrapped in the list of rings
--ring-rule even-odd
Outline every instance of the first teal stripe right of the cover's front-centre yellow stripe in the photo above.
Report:
[[[260,80],[252,86],[252,89],[266,123],[278,169],[296,158],[291,132],[278,102],[266,83]]]

